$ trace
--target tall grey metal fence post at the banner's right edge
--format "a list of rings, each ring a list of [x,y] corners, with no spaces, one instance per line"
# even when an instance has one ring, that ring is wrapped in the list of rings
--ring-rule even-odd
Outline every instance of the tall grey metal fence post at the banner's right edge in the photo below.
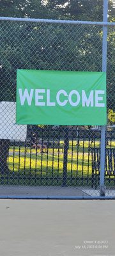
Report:
[[[107,22],[108,0],[104,0],[103,22]],[[102,45],[102,71],[107,70],[107,25],[103,26],[103,45]],[[101,146],[100,146],[100,196],[105,196],[105,133],[106,126],[101,129]]]

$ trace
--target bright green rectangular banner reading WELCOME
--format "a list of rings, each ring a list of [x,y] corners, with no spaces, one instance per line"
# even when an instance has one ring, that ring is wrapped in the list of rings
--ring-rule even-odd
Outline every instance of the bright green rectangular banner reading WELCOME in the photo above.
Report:
[[[17,70],[16,122],[106,125],[105,72]]]

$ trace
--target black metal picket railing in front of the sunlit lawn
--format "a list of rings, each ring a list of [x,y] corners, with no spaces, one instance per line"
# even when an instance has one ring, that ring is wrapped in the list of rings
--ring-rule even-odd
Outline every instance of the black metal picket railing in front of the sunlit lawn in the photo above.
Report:
[[[42,152],[39,147],[33,148],[31,138],[7,141],[7,157],[1,159],[0,165],[0,184],[94,185],[92,152],[100,148],[99,133],[94,136],[92,131],[63,127],[60,131],[43,132],[39,139],[42,141]],[[47,146],[47,152],[44,153],[43,144]],[[107,139],[107,148],[115,148],[114,138]],[[5,152],[6,147],[3,156]],[[7,166],[5,170],[2,168],[3,161]]]

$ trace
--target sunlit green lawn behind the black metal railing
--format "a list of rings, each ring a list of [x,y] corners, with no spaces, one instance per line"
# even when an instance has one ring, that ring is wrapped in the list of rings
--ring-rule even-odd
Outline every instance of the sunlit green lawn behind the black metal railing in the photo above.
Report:
[[[99,141],[96,141],[95,147],[99,147]],[[115,147],[115,142],[112,142],[112,147]],[[63,182],[63,152],[57,149],[50,148],[48,154],[42,155],[39,149],[36,152],[28,148],[26,152],[24,147],[10,147],[8,166],[10,172],[2,176],[3,184],[59,186]],[[88,141],[80,141],[80,146],[76,145],[76,141],[70,141],[66,184],[91,186],[91,152]]]

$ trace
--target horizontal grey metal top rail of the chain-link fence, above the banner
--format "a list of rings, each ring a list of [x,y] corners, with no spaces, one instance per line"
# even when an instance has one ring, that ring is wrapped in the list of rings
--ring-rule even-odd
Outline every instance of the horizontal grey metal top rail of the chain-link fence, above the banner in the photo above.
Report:
[[[0,20],[22,21],[22,22],[43,22],[43,23],[60,23],[60,24],[74,24],[74,25],[100,25],[100,26],[115,26],[115,22],[96,22],[96,21],[82,21],[82,20],[52,20],[52,19],[31,19],[31,18],[15,18],[15,17],[0,17]]]

